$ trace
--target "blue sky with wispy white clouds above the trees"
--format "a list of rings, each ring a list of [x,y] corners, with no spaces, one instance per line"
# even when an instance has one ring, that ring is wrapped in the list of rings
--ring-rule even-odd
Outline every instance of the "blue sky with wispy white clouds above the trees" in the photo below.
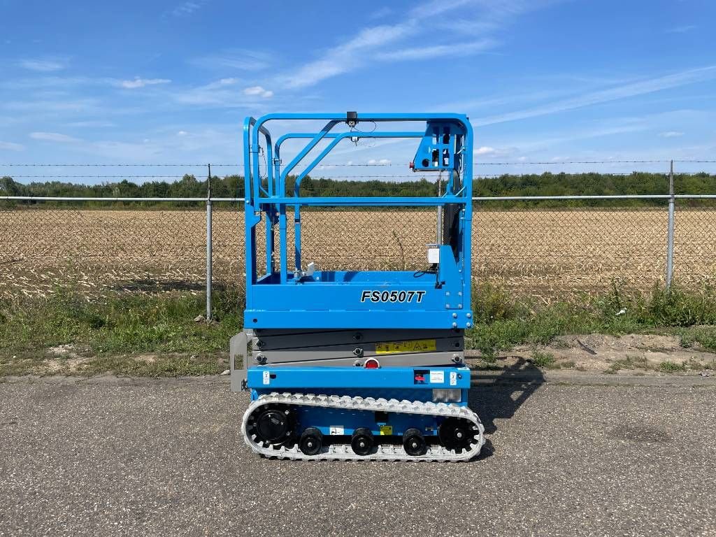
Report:
[[[0,0],[0,19],[0,163],[238,163],[246,115],[345,110],[466,113],[478,162],[716,160],[708,0]],[[637,168],[664,165],[480,170]]]

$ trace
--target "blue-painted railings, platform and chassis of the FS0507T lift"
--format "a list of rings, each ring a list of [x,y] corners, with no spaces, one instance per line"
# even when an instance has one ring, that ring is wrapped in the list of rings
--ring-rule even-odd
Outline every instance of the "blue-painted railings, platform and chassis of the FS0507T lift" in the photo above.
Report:
[[[326,120],[318,132],[293,132],[279,137],[274,144],[266,124],[272,120]],[[331,132],[346,120],[345,114],[270,114],[258,118],[247,117],[243,125],[245,170],[245,229],[246,229],[246,310],[244,326],[254,328],[302,329],[444,329],[470,328],[470,228],[472,222],[472,158],[473,130],[465,115],[457,114],[360,114],[362,122],[427,122],[427,130],[391,132]],[[432,140],[430,125],[450,125],[455,130],[455,150],[449,155],[450,169],[459,170],[462,185],[453,185],[450,173],[445,194],[437,197],[370,197],[315,198],[301,197],[301,180],[323,160],[339,142],[349,137],[420,138],[417,157],[430,153],[438,138]],[[289,139],[309,140],[284,168],[281,167],[281,144]],[[260,142],[266,156],[266,177],[261,178],[259,164]],[[444,141],[444,140],[443,140]],[[320,142],[327,142],[319,154],[301,170],[294,170]],[[437,145],[442,152],[444,145]],[[421,153],[422,152],[422,153]],[[417,160],[417,158],[416,158]],[[286,193],[286,178],[296,175],[293,195]],[[265,181],[263,180],[265,179]],[[310,278],[296,277],[289,270],[287,235],[288,209],[293,209],[294,261],[301,267],[301,208],[302,207],[437,207],[460,205],[459,243],[455,255],[450,246],[440,247],[437,274],[411,271],[316,271]],[[266,258],[256,256],[256,228],[266,229]],[[274,226],[279,227],[278,247]],[[357,245],[359,247],[359,245]],[[278,253],[279,266],[274,266]],[[422,291],[420,304],[415,301],[362,301],[365,292]],[[444,382],[428,382],[430,370],[442,371]],[[417,382],[416,375],[427,371],[425,382]],[[266,384],[266,373],[269,383]],[[451,377],[450,373],[458,378]],[[422,375],[421,375],[422,376]],[[439,378],[439,374],[432,379]],[[453,382],[452,384],[450,382]],[[271,367],[248,368],[247,386],[252,400],[271,392],[301,392],[326,395],[384,397],[416,401],[433,400],[433,389],[460,390],[458,405],[468,404],[470,372],[465,367],[384,367],[362,369],[351,367]],[[426,436],[437,434],[440,420],[432,417],[391,415],[379,422],[372,412],[343,412],[306,407],[299,410],[301,427],[318,427],[328,435],[330,427],[341,425],[346,435],[357,427],[369,427],[379,435],[381,425],[391,425],[392,433],[400,435],[409,427],[419,427]]]

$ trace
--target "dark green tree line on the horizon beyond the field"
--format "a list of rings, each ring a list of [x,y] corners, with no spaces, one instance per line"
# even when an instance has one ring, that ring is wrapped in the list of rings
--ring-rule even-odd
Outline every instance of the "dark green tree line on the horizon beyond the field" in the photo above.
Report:
[[[430,177],[428,180],[427,177]],[[287,195],[294,192],[295,177],[286,180]],[[207,180],[198,180],[194,175],[184,175],[174,182],[147,181],[132,183],[121,180],[117,183],[85,185],[60,181],[19,183],[6,176],[0,179],[0,195],[89,197],[89,198],[205,198]],[[265,185],[264,185],[265,187]],[[716,175],[696,173],[677,175],[674,180],[677,194],[716,194]],[[437,194],[437,178],[420,177],[413,181],[393,182],[387,180],[335,180],[311,178],[301,181],[301,195],[311,196],[433,196]],[[495,178],[478,178],[473,183],[476,196],[536,196],[536,195],[634,195],[669,193],[668,176],[663,173],[634,172],[629,175],[609,173],[541,173],[524,175],[500,175]],[[212,198],[243,198],[244,183],[241,175],[214,176],[211,178]],[[69,202],[72,204],[72,202]],[[591,202],[570,200],[569,205],[663,205],[664,200],[609,200]],[[693,205],[710,204],[705,201],[690,202]],[[59,203],[58,203],[59,204]],[[67,205],[68,203],[64,203]],[[95,205],[105,205],[100,202]],[[514,201],[494,202],[501,207],[528,205],[563,206],[564,201]],[[124,203],[136,206],[140,203]],[[144,203],[161,208],[201,206],[202,203]],[[106,206],[106,205],[105,205]]]

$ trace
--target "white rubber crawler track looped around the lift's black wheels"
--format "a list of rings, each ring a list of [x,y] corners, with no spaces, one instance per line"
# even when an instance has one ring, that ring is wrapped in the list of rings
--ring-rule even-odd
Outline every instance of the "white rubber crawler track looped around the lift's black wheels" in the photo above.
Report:
[[[404,414],[420,414],[436,417],[459,417],[472,422],[478,428],[478,434],[475,434],[473,440],[475,443],[470,449],[463,450],[463,453],[456,453],[455,450],[448,450],[438,445],[429,445],[427,453],[419,457],[408,455],[402,445],[379,445],[377,452],[371,455],[356,455],[353,453],[350,444],[332,444],[324,446],[321,453],[317,455],[304,455],[299,450],[298,445],[286,447],[285,445],[276,447],[269,446],[264,448],[256,443],[256,435],[249,437],[246,434],[246,426],[248,418],[255,412],[258,407],[264,405],[291,405],[291,406],[310,406],[336,408],[339,410],[359,410],[368,412],[392,412]],[[453,462],[470,460],[477,456],[482,449],[485,439],[483,433],[485,427],[480,422],[480,418],[468,407],[460,407],[458,405],[448,405],[446,403],[422,402],[422,401],[406,401],[406,400],[385,400],[373,399],[372,397],[349,397],[347,395],[313,395],[298,393],[271,393],[269,395],[261,395],[257,400],[252,401],[248,405],[246,413],[243,415],[241,422],[241,434],[251,450],[254,453],[269,458],[290,459],[290,460],[406,460],[412,462]]]

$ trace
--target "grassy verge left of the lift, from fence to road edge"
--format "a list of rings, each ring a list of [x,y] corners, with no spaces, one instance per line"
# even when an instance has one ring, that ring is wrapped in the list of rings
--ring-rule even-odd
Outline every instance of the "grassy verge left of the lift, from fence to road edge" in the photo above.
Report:
[[[241,329],[242,309],[238,291],[213,295],[211,323],[194,321],[205,313],[201,294],[118,294],[87,301],[58,291],[45,299],[0,301],[0,374],[17,374],[20,363],[32,369],[43,359],[54,359],[47,349],[63,344],[72,345],[74,354],[92,357],[84,366],[88,374],[217,372],[217,357],[226,354],[228,340]],[[154,362],[125,358],[147,353],[157,357]]]

